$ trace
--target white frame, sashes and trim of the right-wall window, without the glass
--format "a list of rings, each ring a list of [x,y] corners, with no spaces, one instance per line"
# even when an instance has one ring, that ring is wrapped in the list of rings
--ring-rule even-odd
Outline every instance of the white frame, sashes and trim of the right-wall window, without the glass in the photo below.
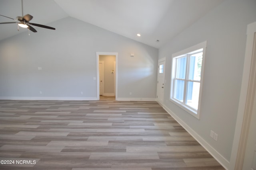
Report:
[[[200,81],[195,81],[195,82],[200,82],[198,109],[196,110],[196,109],[186,105],[185,101],[180,102],[179,100],[174,98],[174,78],[175,78],[175,72],[176,72],[176,59],[180,58],[180,57],[184,57],[186,55],[191,55],[191,54],[197,53],[200,50],[202,50],[203,55],[202,55],[201,78],[200,78]],[[206,41],[172,54],[172,74],[171,74],[172,77],[171,77],[170,101],[173,102],[174,104],[176,104],[177,106],[181,107],[182,109],[184,109],[186,112],[190,113],[197,119],[200,119],[200,106],[201,106],[201,97],[202,97],[202,84],[203,84],[203,78],[204,78],[205,52],[206,52]],[[187,60],[188,60],[188,58],[187,58]],[[187,64],[188,64],[188,61],[187,61]],[[184,94],[184,96],[185,95],[186,94]]]

